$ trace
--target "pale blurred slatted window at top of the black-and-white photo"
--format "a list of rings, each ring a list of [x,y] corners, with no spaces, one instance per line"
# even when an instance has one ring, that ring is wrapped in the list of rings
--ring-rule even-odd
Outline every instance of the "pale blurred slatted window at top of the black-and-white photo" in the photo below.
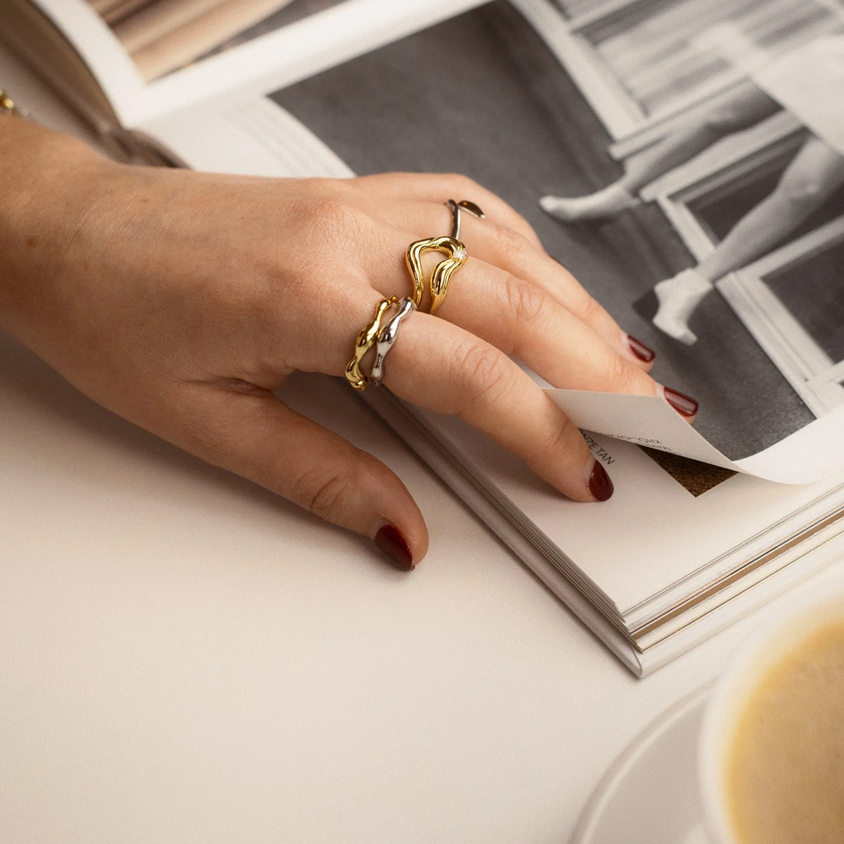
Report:
[[[841,0],[555,0],[555,8],[564,22],[552,47],[619,141],[844,29]]]

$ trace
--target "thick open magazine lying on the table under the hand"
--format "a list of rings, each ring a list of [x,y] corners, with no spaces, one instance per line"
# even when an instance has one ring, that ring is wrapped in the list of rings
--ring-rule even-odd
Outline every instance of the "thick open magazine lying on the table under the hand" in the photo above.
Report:
[[[543,384],[614,480],[584,505],[461,419],[364,395],[641,675],[844,549],[842,3],[6,0],[0,35],[127,159],[461,172],[517,208],[695,425]],[[539,204],[643,167],[624,208]],[[696,342],[657,330],[654,285],[716,259]]]

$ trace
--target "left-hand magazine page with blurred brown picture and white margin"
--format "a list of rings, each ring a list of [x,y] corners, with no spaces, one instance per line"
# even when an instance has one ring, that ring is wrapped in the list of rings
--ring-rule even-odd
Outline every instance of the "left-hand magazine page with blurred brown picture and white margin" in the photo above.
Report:
[[[306,78],[482,0],[32,2],[135,128],[249,82]]]

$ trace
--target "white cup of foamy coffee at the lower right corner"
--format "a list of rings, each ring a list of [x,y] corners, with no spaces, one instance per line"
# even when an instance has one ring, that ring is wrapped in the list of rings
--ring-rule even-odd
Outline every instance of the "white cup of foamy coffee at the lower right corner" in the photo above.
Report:
[[[801,603],[724,674],[699,780],[711,844],[844,842],[844,591]]]

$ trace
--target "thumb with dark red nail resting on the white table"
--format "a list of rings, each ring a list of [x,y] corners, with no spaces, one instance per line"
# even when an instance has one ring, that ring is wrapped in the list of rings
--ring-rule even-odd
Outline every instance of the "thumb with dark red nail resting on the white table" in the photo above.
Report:
[[[410,571],[425,556],[422,513],[376,457],[295,413],[271,392],[195,387],[192,429],[174,438],[184,440],[176,445],[371,538],[398,569]]]

